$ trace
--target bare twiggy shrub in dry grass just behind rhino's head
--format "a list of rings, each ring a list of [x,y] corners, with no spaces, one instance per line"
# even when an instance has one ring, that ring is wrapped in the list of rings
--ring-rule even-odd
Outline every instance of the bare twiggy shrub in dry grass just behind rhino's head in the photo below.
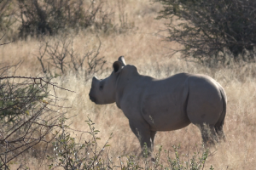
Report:
[[[84,54],[78,54],[74,50],[73,37],[55,37],[40,43],[38,61],[44,74],[50,77],[67,74],[72,71],[77,76],[83,74],[85,80],[96,72],[104,71],[106,60],[100,56],[101,41],[98,47],[84,47]]]

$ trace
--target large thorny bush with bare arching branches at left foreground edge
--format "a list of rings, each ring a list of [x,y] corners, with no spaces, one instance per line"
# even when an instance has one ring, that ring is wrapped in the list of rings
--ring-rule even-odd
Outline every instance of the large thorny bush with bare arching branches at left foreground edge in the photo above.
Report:
[[[61,87],[42,77],[7,77],[3,72],[0,72],[0,169],[9,169],[17,161],[19,168],[27,168],[26,154],[31,151],[32,155],[44,157],[48,144],[55,138],[51,132],[60,128],[59,120],[64,113],[55,108],[63,108],[57,105],[62,99],[49,94],[49,87]],[[39,150],[35,149],[37,145]]]

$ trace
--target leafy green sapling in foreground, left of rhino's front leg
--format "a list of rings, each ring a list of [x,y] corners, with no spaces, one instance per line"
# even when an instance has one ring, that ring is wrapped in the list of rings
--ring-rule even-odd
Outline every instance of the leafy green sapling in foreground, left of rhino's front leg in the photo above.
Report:
[[[110,160],[106,161],[102,155],[106,147],[109,146],[107,142],[100,148],[98,140],[100,138],[97,134],[100,132],[94,127],[95,123],[88,118],[87,124],[90,127],[90,132],[82,132],[79,139],[73,138],[68,132],[71,130],[64,123],[66,118],[61,120],[61,133],[58,133],[54,142],[54,156],[48,156],[49,160],[53,161],[49,165],[49,169],[54,167],[63,167],[64,169],[104,169],[109,167]],[[79,132],[77,132],[79,133]],[[89,134],[89,138],[84,139],[84,134]],[[107,163],[106,163],[107,162]]]

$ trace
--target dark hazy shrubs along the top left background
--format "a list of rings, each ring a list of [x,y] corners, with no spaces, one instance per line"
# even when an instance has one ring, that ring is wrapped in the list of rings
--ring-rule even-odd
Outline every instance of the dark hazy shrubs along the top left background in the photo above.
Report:
[[[103,0],[17,0],[21,20],[20,37],[27,35],[54,35],[59,31],[78,30],[95,26],[108,29],[111,11],[103,8]]]

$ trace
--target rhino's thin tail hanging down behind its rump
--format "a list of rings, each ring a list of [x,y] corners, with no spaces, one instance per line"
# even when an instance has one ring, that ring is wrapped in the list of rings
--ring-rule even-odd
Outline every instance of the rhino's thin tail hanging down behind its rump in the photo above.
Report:
[[[227,96],[222,87],[219,88],[219,91],[220,91],[220,94],[221,94],[221,97],[223,100],[223,111],[222,111],[221,115],[219,116],[218,122],[214,125],[214,128],[215,128],[216,133],[218,133],[218,138],[225,141],[226,139],[225,139],[223,126],[224,126],[224,119],[226,116]]]

